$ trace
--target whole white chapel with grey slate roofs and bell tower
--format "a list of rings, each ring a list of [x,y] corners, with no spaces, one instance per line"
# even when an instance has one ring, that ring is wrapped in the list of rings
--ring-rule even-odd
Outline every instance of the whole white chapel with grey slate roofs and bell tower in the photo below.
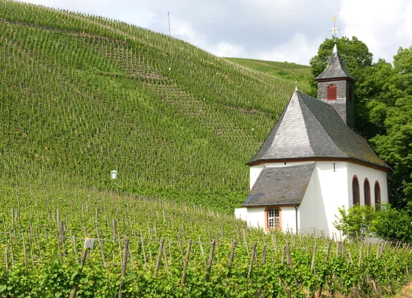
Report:
[[[291,232],[336,233],[338,208],[387,203],[387,172],[354,131],[354,82],[336,49],[316,78],[318,99],[295,90],[248,162],[250,193],[236,217]]]

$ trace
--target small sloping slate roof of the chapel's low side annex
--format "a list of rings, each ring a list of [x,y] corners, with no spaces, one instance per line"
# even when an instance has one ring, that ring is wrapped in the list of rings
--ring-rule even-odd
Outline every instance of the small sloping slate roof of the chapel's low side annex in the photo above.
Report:
[[[242,206],[300,205],[313,169],[314,163],[262,169]]]

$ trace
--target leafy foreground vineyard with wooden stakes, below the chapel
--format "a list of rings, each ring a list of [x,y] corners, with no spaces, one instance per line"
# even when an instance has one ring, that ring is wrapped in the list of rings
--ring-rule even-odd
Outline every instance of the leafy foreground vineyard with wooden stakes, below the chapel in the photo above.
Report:
[[[406,244],[264,233],[183,201],[53,186],[0,195],[1,297],[371,297],[412,266]]]

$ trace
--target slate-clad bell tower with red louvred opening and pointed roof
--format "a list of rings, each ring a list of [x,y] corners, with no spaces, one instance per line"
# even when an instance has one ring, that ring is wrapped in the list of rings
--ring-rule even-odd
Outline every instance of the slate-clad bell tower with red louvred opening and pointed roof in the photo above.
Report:
[[[318,99],[332,105],[343,122],[354,127],[356,79],[345,69],[336,42],[328,66],[315,80],[318,82]]]

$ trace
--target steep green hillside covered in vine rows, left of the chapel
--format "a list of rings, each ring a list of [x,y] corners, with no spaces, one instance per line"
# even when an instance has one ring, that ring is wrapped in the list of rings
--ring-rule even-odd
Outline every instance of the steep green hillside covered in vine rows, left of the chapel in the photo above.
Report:
[[[106,18],[4,0],[0,17],[3,179],[242,201],[293,80]]]

